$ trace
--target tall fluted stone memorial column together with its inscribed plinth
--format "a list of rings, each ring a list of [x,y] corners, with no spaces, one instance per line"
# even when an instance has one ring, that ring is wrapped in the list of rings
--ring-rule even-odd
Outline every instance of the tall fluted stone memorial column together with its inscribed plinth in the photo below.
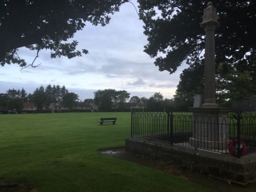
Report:
[[[201,149],[224,150],[229,142],[229,108],[218,107],[215,99],[215,28],[219,26],[216,9],[209,2],[200,23],[205,31],[204,100],[202,106],[190,107],[193,113],[189,145]]]

